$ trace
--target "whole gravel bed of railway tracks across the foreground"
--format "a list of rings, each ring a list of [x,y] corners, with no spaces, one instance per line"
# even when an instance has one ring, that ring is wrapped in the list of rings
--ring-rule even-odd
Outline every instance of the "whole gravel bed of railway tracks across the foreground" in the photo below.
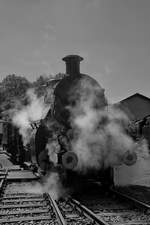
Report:
[[[126,194],[96,185],[77,200],[54,201],[48,193],[29,193],[37,179],[18,167],[0,169],[0,224],[150,225],[150,205]]]

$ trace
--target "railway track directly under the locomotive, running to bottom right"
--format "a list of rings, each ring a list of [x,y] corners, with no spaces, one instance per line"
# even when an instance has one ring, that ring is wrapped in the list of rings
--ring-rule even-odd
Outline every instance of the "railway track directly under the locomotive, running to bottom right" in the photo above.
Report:
[[[71,201],[80,208],[88,208],[102,225],[150,225],[150,205],[113,189],[106,193],[99,188],[96,192],[80,195],[78,201]]]

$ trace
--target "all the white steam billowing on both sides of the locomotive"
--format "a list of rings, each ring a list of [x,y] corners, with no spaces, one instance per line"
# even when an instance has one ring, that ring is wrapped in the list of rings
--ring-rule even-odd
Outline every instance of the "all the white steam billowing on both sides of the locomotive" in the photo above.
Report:
[[[29,105],[17,111],[13,117],[13,123],[19,127],[24,144],[28,143],[31,137],[30,123],[40,120],[48,112],[43,98],[37,98],[33,90],[29,90],[27,95]],[[104,90],[99,86],[82,79],[79,86],[71,90],[70,102],[74,104],[67,107],[71,114],[72,125],[72,130],[67,132],[71,137],[68,145],[78,157],[78,165],[75,168],[78,172],[86,173],[90,169],[99,170],[102,167],[119,165],[127,151],[142,152],[144,156],[148,153],[145,141],[137,144],[127,135],[125,132],[125,127],[129,123],[127,116],[114,106],[107,106]],[[55,135],[59,126],[55,132],[52,130],[52,123],[55,124],[56,121],[45,122],[50,132]],[[57,164],[56,156],[60,151],[57,138],[52,135],[46,148],[50,161],[54,165]],[[51,173],[44,182],[44,187],[40,186],[40,189],[53,193],[55,199],[64,193],[57,173]]]

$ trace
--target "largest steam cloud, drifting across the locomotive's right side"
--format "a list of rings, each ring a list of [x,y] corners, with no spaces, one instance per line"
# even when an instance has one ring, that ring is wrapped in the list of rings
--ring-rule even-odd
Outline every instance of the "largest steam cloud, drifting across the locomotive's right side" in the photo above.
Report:
[[[82,90],[82,93],[79,93]],[[76,104],[69,107],[73,127],[72,150],[78,156],[76,170],[86,173],[89,169],[119,165],[124,154],[143,149],[127,135],[127,116],[114,106],[106,105],[104,90],[86,79],[74,91]],[[72,96],[70,101],[72,100]]]

